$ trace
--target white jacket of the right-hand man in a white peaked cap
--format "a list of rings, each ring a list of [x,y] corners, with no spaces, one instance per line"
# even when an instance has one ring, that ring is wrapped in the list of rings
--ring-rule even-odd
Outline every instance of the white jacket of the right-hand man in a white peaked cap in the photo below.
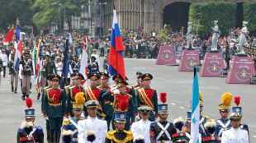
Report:
[[[142,135],[145,137],[145,142],[150,142],[149,130],[151,122],[149,120],[140,120],[134,122],[131,126],[131,131],[134,136]]]

